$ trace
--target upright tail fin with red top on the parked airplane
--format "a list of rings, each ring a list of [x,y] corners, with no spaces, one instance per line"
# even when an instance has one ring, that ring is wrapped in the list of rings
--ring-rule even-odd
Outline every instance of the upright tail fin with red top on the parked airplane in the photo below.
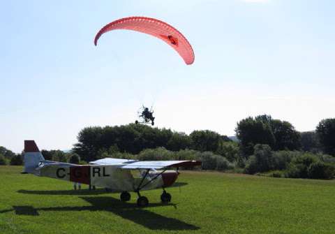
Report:
[[[24,140],[24,173],[35,174],[40,161],[45,161],[34,140]]]

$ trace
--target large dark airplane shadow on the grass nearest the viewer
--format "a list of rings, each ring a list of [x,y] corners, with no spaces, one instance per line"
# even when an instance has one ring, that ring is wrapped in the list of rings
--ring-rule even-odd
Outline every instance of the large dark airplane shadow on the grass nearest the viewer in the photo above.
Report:
[[[90,206],[66,206],[66,207],[40,207],[34,208],[31,206],[13,206],[11,210],[0,210],[0,213],[15,211],[17,215],[39,215],[39,211],[106,211],[112,212],[124,219],[133,221],[135,224],[140,224],[151,230],[198,230],[198,226],[187,224],[178,219],[164,217],[161,214],[156,214],[145,208],[139,208],[135,203],[123,203],[116,198],[111,197],[80,197],[83,200],[91,203]],[[149,203],[149,207],[174,206],[174,204],[163,205],[162,203]]]

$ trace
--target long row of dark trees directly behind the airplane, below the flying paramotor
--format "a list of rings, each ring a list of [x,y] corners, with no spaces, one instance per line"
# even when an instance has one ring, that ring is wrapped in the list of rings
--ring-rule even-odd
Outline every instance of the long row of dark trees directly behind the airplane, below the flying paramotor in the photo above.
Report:
[[[100,159],[114,152],[138,154],[144,149],[157,147],[174,152],[181,149],[217,152],[225,142],[232,142],[214,131],[193,131],[187,135],[142,124],[87,127],[80,131],[77,140],[73,152],[85,161]]]

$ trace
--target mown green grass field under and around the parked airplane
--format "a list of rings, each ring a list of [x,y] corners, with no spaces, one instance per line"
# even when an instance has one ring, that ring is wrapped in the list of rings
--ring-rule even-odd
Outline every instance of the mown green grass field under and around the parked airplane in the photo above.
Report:
[[[144,191],[140,209],[118,193],[73,191],[60,180],[0,166],[0,233],[334,233],[335,181],[183,172],[179,187]],[[86,188],[86,186],[85,186]]]

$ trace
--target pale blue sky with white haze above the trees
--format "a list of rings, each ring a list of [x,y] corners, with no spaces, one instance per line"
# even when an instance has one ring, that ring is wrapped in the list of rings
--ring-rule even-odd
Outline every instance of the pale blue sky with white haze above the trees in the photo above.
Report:
[[[156,124],[234,135],[267,113],[298,131],[335,117],[335,2],[1,1],[0,145],[69,149],[85,126],[128,124],[154,102]],[[156,17],[193,45],[186,66],[132,31],[93,40],[108,22]]]

